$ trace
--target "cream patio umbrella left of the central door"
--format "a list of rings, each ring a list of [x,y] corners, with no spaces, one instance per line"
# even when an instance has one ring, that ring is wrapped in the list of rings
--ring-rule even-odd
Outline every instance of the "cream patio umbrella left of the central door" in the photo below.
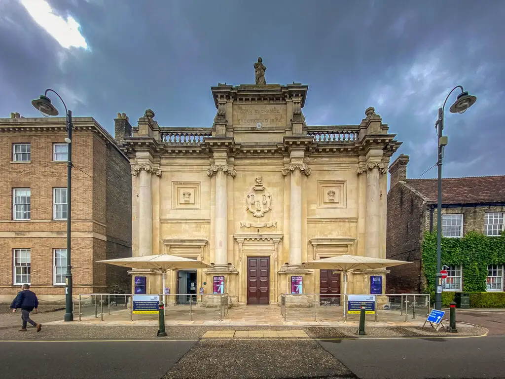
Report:
[[[162,296],[165,295],[165,275],[167,271],[171,270],[190,270],[198,268],[211,268],[211,265],[198,261],[196,259],[189,259],[178,257],[176,255],[158,254],[158,255],[145,255],[142,257],[129,257],[119,259],[106,259],[104,261],[97,261],[101,263],[114,264],[116,266],[140,268],[140,269],[156,269],[163,274],[163,289]]]

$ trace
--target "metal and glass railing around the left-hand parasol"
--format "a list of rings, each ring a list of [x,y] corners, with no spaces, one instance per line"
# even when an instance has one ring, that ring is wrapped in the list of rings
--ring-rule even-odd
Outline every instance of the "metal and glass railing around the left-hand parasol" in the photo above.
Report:
[[[130,321],[133,321],[133,304],[132,299],[135,294],[79,294],[79,321],[82,320],[83,315],[83,297],[86,299],[91,299],[91,306],[94,305],[94,317],[100,317],[100,321],[104,320],[104,303],[107,307],[107,313],[111,315],[111,307],[124,305],[124,308],[129,308]],[[159,296],[160,299],[165,304],[164,313],[165,315],[170,313],[180,313],[178,311],[185,312],[189,311],[189,320],[193,321],[193,315],[198,313],[197,307],[207,307],[216,308],[215,312],[219,312],[219,320],[222,321],[223,317],[226,317],[229,312],[230,297],[228,294],[149,294],[153,296]],[[209,301],[204,301],[204,297],[207,297]],[[198,301],[198,298],[200,301]],[[173,299],[173,300],[172,300]],[[189,309],[188,309],[189,308]],[[207,312],[212,315],[211,312]],[[184,314],[184,313],[182,313]],[[141,315],[140,315],[141,316]]]

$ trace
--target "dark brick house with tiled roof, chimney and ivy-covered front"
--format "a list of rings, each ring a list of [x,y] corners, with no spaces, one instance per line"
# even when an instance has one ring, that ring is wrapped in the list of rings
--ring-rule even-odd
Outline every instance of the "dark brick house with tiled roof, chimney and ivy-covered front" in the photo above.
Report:
[[[418,293],[426,286],[422,242],[437,225],[437,179],[408,179],[409,156],[401,154],[389,167],[386,256],[413,262],[390,268],[388,293]],[[498,236],[503,231],[505,176],[442,179],[442,237],[462,238],[471,230]],[[442,266],[444,262],[441,262]],[[449,265],[443,291],[463,291],[464,265]],[[503,265],[489,265],[488,291],[503,291]]]

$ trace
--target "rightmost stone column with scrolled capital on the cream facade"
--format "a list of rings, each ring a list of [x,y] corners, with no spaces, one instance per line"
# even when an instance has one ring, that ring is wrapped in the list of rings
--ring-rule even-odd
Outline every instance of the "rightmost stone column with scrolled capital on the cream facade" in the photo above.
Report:
[[[367,212],[365,220],[365,254],[379,258],[380,184],[379,173],[385,171],[384,163],[370,162],[367,165]]]

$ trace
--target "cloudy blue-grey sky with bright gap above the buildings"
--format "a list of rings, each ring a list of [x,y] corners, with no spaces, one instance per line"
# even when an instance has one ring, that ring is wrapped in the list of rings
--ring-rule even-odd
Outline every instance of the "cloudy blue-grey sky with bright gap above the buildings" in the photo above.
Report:
[[[503,14],[501,0],[0,0],[0,117],[38,117],[30,101],[51,87],[111,133],[147,108],[161,126],[211,126],[210,86],[254,83],[261,56],[267,83],[309,85],[309,125],[375,107],[409,177],[435,163],[437,109],[461,84],[478,100],[447,107],[444,176],[502,175]]]

